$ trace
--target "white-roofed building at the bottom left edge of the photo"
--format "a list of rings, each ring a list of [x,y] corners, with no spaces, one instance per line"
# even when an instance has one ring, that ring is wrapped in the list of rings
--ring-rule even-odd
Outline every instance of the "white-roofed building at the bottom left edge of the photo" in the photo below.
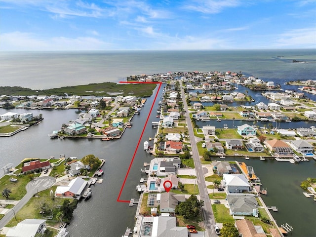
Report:
[[[43,219],[24,219],[15,227],[8,229],[6,237],[32,237],[44,236],[46,231],[46,220]]]

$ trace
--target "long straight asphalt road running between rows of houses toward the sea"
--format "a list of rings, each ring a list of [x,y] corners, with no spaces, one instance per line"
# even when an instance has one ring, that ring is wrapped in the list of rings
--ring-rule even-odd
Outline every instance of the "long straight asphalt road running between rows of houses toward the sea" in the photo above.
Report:
[[[194,165],[196,167],[199,196],[200,196],[200,199],[204,201],[204,206],[202,207],[202,214],[204,217],[204,225],[205,225],[205,229],[206,229],[205,233],[207,234],[207,237],[216,237],[217,235],[216,235],[215,229],[214,229],[215,218],[214,218],[214,214],[213,214],[213,210],[212,210],[212,206],[211,206],[211,201],[208,197],[208,192],[207,192],[207,188],[206,188],[206,184],[205,184],[205,180],[204,180],[203,168],[202,168],[202,165],[201,165],[201,162],[199,159],[197,145],[196,145],[197,143],[196,143],[196,139],[194,136],[192,123],[190,120],[188,104],[186,101],[186,97],[185,97],[181,82],[180,82],[180,86],[181,86],[181,97],[183,100],[183,106],[184,106],[184,110],[186,113],[187,126],[188,126],[188,130],[189,130],[189,135],[190,135],[192,157],[194,160]]]

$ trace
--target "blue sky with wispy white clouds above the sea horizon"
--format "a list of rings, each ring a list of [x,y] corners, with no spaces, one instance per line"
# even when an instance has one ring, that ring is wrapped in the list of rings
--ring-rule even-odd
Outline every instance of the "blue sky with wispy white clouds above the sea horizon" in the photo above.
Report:
[[[316,0],[0,0],[0,50],[316,48]]]

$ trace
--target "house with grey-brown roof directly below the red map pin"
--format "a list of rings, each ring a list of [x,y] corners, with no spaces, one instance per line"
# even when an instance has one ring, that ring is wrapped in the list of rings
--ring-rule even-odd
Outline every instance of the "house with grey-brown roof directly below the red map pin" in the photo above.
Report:
[[[162,213],[174,213],[176,206],[179,202],[186,200],[186,197],[181,194],[175,194],[172,192],[160,194],[159,210]]]

